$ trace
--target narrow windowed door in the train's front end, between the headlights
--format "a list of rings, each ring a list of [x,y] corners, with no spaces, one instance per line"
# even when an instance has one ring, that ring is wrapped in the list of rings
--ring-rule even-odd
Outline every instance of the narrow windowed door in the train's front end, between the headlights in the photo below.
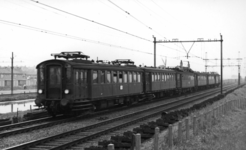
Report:
[[[47,98],[62,98],[62,69],[60,65],[47,66]]]

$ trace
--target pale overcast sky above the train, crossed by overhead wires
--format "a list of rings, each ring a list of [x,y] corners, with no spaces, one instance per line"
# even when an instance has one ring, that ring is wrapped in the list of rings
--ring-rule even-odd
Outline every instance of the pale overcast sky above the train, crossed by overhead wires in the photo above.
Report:
[[[224,65],[246,75],[245,0],[0,0],[0,66],[36,66],[52,53],[82,51],[91,59],[131,59],[154,66],[156,40],[220,39]],[[220,42],[162,43],[156,64],[174,67],[182,60],[195,71],[220,66]],[[187,51],[190,50],[189,58]],[[213,60],[218,59],[218,60]],[[220,73],[220,67],[208,67]],[[224,78],[238,67],[224,67]]]

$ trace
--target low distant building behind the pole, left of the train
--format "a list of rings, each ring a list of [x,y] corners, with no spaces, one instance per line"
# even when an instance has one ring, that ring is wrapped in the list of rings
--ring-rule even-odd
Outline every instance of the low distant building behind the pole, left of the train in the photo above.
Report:
[[[21,68],[14,68],[13,70],[13,86],[23,87],[25,86],[36,86],[37,75],[27,74]],[[0,87],[11,87],[11,68],[0,67]]]

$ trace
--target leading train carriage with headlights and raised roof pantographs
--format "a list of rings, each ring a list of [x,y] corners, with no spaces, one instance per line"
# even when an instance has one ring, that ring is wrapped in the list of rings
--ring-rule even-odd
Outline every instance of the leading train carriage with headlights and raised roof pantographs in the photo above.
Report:
[[[143,70],[130,60],[94,63],[79,52],[54,56],[54,60],[37,65],[39,82],[35,102],[44,105],[50,114],[132,103],[143,93]]]

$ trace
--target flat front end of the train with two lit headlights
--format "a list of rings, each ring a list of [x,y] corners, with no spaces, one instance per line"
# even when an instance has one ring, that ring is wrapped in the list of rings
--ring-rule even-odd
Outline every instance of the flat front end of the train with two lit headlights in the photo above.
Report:
[[[37,106],[52,116],[69,113],[71,65],[62,60],[48,60],[37,66]]]

